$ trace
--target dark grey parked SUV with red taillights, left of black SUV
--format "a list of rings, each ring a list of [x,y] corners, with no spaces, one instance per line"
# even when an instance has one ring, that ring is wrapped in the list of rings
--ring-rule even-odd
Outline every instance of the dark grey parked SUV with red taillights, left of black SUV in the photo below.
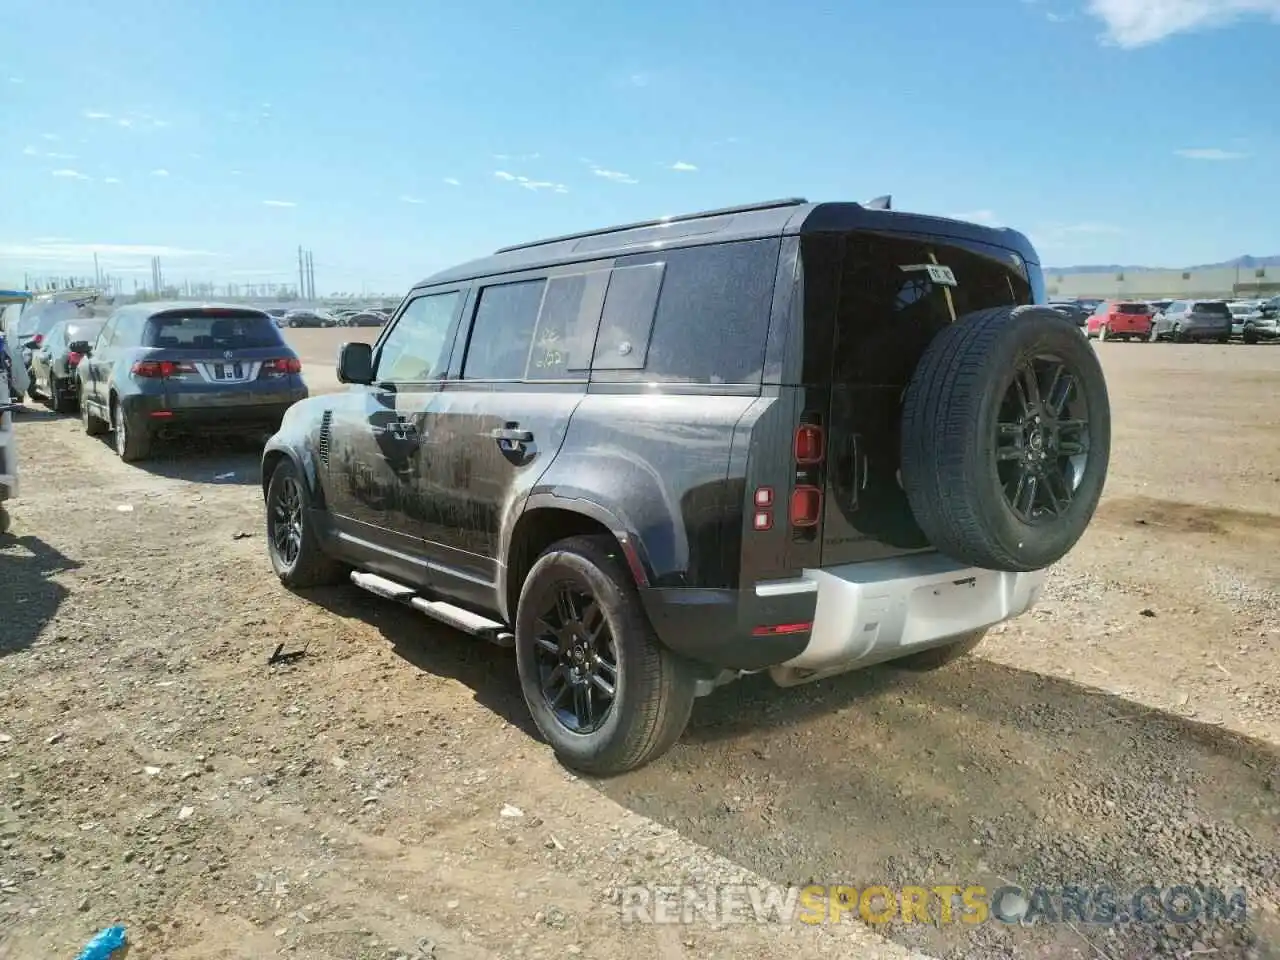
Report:
[[[77,367],[87,434],[138,461],[173,434],[264,434],[307,396],[302,364],[261,310],[138,303],[116,310]]]

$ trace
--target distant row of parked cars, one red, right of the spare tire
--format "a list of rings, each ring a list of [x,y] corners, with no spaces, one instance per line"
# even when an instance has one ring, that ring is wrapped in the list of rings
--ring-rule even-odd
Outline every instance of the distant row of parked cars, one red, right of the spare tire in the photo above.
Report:
[[[1261,343],[1280,339],[1280,297],[1257,301],[1059,301],[1055,310],[1100,340]]]

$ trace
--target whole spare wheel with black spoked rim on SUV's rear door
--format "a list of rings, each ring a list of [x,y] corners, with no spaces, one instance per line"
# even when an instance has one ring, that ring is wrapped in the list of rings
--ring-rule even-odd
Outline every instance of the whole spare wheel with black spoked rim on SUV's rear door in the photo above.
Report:
[[[942,553],[1028,571],[1089,525],[1111,454],[1097,355],[1048,307],[961,316],[929,343],[902,406],[902,486]]]

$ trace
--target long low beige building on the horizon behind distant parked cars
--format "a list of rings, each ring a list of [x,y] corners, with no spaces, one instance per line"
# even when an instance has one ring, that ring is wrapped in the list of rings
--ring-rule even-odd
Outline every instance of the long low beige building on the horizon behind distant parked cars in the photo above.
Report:
[[[1280,266],[1229,266],[1211,270],[1133,270],[1125,273],[1056,274],[1044,271],[1051,298],[1248,300],[1280,293]]]

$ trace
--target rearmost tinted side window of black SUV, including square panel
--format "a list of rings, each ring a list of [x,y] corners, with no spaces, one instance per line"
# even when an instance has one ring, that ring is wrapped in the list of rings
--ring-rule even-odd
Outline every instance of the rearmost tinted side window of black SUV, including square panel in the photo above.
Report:
[[[776,239],[620,259],[591,379],[759,383],[777,269]]]

